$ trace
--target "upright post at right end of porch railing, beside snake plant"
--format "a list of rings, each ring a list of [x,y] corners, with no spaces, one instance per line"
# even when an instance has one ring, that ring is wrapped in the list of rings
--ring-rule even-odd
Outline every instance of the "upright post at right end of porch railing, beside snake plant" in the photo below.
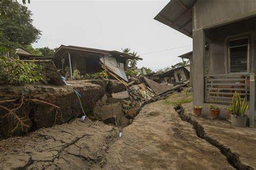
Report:
[[[255,100],[254,73],[250,73],[250,127],[254,127],[254,100]]]

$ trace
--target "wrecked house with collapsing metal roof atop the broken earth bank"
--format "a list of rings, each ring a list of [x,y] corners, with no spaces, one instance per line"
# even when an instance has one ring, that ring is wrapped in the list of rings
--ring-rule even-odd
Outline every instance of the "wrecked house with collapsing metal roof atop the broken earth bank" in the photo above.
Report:
[[[128,81],[125,74],[127,59],[142,60],[142,58],[126,55],[119,51],[107,51],[71,45],[60,45],[53,57],[58,70],[64,71],[66,66],[70,68],[71,79],[73,78],[72,72],[76,69],[81,74],[91,74],[107,70],[112,76],[116,74],[118,78],[126,82]]]

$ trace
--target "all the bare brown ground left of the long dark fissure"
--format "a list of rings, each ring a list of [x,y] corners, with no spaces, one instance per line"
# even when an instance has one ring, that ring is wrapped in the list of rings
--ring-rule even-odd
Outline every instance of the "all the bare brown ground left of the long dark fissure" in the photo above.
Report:
[[[165,100],[145,105],[122,138],[118,133],[101,122],[74,119],[1,140],[0,169],[234,169]]]

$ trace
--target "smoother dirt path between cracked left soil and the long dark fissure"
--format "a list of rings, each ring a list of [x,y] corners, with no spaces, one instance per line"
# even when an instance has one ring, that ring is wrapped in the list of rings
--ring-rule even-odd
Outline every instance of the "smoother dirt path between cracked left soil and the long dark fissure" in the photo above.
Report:
[[[164,100],[144,106],[107,154],[106,168],[233,169]]]

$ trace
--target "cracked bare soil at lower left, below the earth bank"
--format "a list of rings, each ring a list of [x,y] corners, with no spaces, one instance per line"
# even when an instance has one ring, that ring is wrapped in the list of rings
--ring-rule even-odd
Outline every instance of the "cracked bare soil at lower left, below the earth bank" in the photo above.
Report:
[[[79,119],[69,124],[41,128],[27,137],[0,141],[0,169],[88,169],[106,163],[109,146],[117,140],[117,128]]]

